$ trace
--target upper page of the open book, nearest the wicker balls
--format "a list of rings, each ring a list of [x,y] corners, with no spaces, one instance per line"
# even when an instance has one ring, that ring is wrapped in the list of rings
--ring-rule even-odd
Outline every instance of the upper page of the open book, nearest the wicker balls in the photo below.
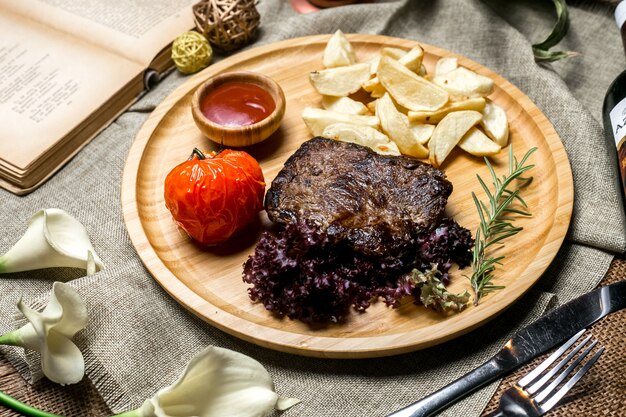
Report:
[[[0,0],[29,16],[146,68],[176,36],[194,27],[196,0]],[[4,32],[4,30],[2,30]]]

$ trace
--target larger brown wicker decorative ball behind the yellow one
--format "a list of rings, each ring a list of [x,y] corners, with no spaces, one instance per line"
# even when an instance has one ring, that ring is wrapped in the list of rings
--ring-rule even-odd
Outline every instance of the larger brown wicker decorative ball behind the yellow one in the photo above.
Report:
[[[247,45],[259,27],[256,0],[202,0],[193,6],[196,28],[216,49],[228,52]]]

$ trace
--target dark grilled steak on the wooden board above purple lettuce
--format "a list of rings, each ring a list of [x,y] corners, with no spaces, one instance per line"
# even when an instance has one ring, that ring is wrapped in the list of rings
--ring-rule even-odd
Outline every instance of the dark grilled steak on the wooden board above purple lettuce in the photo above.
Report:
[[[358,253],[396,257],[438,224],[451,192],[431,165],[316,137],[287,160],[265,209],[277,223],[312,221]]]

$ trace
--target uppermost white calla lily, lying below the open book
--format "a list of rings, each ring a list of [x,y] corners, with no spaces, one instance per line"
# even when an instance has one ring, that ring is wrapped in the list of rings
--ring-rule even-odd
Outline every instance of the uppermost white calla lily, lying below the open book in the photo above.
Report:
[[[85,226],[57,208],[35,213],[24,236],[0,256],[0,273],[52,267],[82,268],[88,272],[104,267]]]

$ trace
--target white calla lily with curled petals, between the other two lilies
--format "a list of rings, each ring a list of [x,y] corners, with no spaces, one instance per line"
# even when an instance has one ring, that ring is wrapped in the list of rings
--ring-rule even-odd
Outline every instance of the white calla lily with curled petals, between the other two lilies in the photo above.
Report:
[[[39,313],[18,302],[29,321],[0,336],[0,344],[21,346],[41,354],[46,377],[61,385],[75,384],[85,375],[85,361],[72,337],[87,325],[87,307],[76,290],[62,282],[52,285],[50,300]]]

